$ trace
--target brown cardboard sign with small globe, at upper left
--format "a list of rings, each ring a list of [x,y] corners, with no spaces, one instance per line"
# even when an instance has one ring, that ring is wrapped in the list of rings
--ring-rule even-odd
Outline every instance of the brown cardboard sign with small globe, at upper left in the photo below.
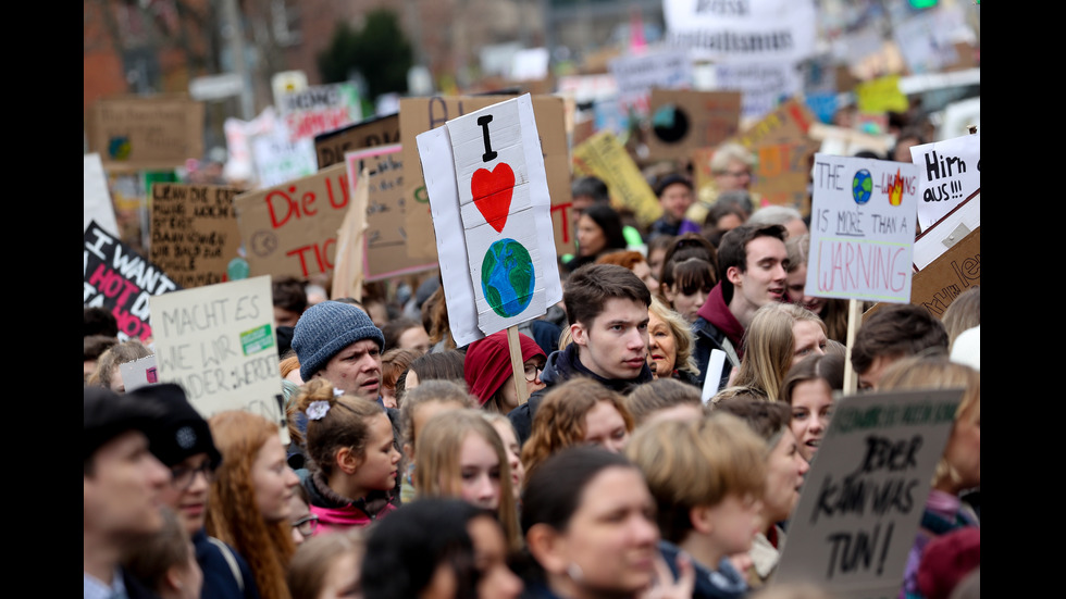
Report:
[[[203,102],[187,96],[99,100],[85,128],[106,169],[168,170],[203,157]]]

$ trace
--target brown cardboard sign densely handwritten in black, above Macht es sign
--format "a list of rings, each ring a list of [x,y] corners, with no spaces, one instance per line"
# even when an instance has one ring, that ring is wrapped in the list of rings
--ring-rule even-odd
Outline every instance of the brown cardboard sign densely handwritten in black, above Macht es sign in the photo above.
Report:
[[[236,187],[157,183],[151,188],[151,261],[175,283],[200,287],[226,280],[238,258]]]

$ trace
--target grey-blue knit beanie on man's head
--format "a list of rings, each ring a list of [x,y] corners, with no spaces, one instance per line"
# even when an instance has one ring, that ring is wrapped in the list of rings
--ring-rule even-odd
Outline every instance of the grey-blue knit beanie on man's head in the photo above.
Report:
[[[293,333],[300,377],[310,380],[311,375],[325,367],[340,350],[362,339],[373,339],[377,341],[377,349],[385,348],[381,329],[356,305],[323,301],[308,308],[296,322]]]

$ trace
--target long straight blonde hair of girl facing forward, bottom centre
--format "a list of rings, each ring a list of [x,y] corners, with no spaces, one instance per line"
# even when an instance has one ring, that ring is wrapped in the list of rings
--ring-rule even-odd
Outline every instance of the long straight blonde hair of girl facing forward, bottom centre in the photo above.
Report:
[[[499,433],[475,408],[448,410],[434,414],[420,433],[421,441],[414,450],[414,474],[411,483],[417,498],[460,497],[462,464],[459,456],[462,444],[470,435],[479,435],[496,452],[499,460],[499,508],[497,515],[511,549],[522,547],[518,526],[518,507],[511,488],[511,467],[507,448]]]

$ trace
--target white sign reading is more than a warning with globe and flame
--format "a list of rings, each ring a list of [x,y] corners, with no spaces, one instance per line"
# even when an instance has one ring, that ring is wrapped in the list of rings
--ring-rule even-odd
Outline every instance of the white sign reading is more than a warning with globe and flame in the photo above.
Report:
[[[815,154],[804,292],[908,303],[917,198],[914,164]]]

